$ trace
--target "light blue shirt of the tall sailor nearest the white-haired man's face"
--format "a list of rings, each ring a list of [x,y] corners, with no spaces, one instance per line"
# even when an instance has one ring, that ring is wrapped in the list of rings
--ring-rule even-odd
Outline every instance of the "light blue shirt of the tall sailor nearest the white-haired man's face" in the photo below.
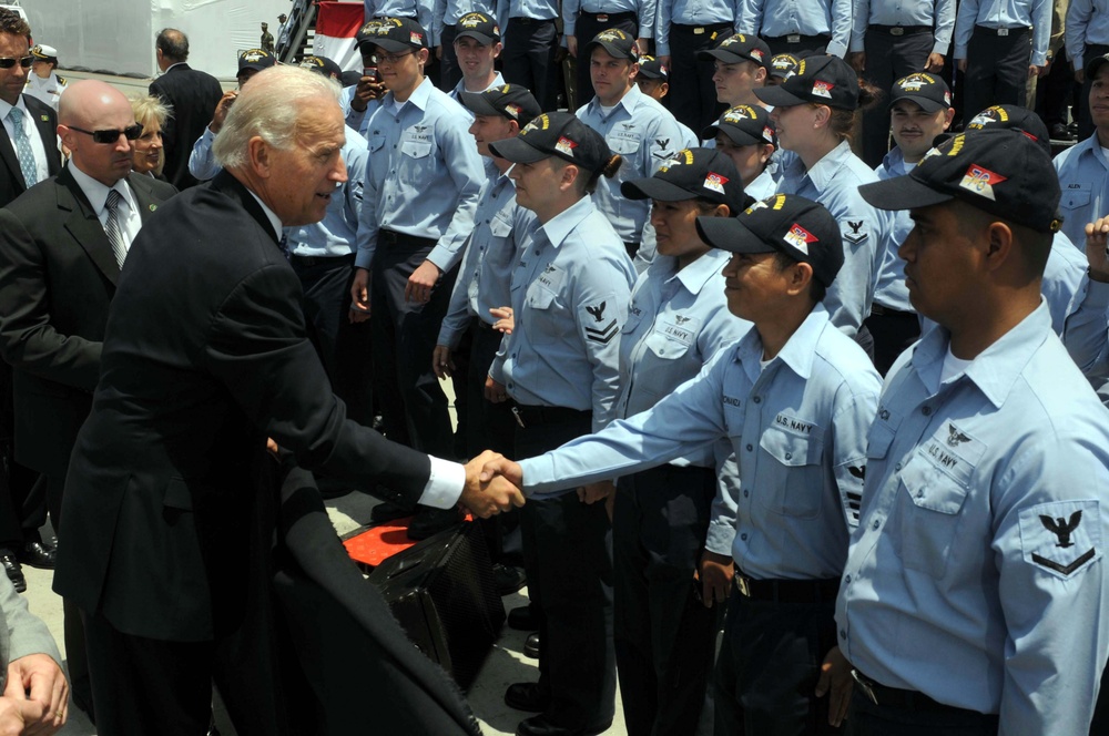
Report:
[[[442,272],[462,257],[485,167],[466,110],[425,79],[400,109],[393,92],[369,121],[369,176],[355,265],[369,268],[379,229],[437,239],[427,259]]]

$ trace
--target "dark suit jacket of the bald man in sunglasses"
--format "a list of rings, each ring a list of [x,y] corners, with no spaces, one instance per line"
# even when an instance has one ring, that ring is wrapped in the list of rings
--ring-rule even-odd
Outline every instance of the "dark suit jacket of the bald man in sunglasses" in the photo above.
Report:
[[[145,223],[176,194],[131,174]],[[67,166],[0,209],[0,352],[14,370],[16,459],[64,476],[100,379],[100,345],[120,277],[96,213]]]

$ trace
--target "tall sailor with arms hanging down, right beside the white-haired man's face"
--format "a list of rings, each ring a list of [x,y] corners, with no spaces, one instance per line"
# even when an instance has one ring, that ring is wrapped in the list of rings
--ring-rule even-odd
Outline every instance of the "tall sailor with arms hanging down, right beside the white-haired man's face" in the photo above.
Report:
[[[359,34],[389,92],[367,126],[350,318],[369,319],[373,309],[374,372],[386,432],[450,457],[447,397],[431,354],[486,175],[467,133],[469,114],[424,75],[424,28],[408,18],[383,18]],[[420,539],[452,521],[454,510],[425,509],[408,533]]]

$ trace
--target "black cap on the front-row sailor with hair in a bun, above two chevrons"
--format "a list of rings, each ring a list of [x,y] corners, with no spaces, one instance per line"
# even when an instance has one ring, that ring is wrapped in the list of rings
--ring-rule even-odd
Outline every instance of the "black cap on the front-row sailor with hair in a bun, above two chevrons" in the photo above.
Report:
[[[547,112],[523,126],[516,137],[489,144],[495,156],[530,164],[556,156],[586,171],[604,171],[612,151],[601,134],[569,112]]]

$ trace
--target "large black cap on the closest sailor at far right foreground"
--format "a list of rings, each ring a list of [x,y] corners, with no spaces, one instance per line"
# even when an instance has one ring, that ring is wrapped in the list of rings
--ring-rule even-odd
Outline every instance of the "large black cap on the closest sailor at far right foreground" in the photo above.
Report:
[[[1051,159],[1015,130],[959,133],[933,149],[906,176],[858,187],[878,209],[912,209],[960,200],[1040,233],[1055,233],[1059,180]]]

